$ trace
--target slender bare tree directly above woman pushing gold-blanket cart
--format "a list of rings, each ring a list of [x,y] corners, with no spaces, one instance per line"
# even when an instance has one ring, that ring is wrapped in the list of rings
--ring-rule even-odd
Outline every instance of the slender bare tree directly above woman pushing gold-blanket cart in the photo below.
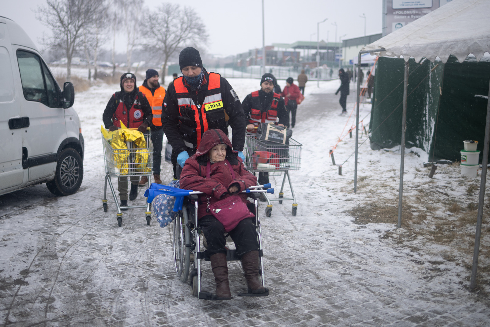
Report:
[[[134,47],[137,46],[139,24],[143,9],[143,0],[120,0],[123,9],[123,25],[126,32],[126,62],[127,71],[131,71],[131,57]]]

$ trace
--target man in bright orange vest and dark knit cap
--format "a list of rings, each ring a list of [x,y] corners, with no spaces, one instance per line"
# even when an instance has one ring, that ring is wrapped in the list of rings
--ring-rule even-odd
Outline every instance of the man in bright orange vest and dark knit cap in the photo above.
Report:
[[[153,119],[151,121],[151,142],[153,143],[153,179],[155,183],[161,184],[160,179],[160,164],[162,163],[162,147],[163,147],[163,127],[162,127],[162,106],[165,98],[165,88],[158,83],[158,72],[154,69],[147,70],[147,78],[143,81],[143,85],[139,87],[141,93],[147,98]],[[143,176],[140,180],[140,186],[148,185],[148,177]]]

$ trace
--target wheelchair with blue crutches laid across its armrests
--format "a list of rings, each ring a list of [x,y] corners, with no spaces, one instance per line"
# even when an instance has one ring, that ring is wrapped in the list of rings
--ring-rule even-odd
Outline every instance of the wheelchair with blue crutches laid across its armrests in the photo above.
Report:
[[[201,289],[201,261],[210,261],[209,254],[206,250],[203,251],[201,248],[201,238],[204,236],[201,228],[197,221],[197,209],[198,209],[198,194],[203,194],[202,192],[182,192],[185,190],[180,190],[177,192],[166,192],[157,191],[159,187],[165,187],[164,185],[152,184],[151,189],[153,192],[145,196],[148,197],[148,201],[151,202],[157,193],[165,193],[169,195],[174,195],[180,193],[181,202],[179,198],[176,200],[176,206],[179,207],[177,212],[177,217],[172,223],[172,243],[173,243],[173,256],[175,264],[175,272],[177,277],[184,283],[188,283],[191,286],[191,293],[200,300],[218,300],[216,295],[212,292],[203,291]],[[258,188],[269,188],[267,190],[259,190]],[[168,189],[173,189],[170,187],[165,187]],[[175,190],[175,189],[174,189]],[[262,285],[265,287],[264,281],[264,260],[262,251],[262,229],[260,226],[260,219],[258,215],[258,199],[260,198],[260,193],[274,193],[274,189],[270,188],[270,184],[253,186],[243,193],[246,193],[249,198],[253,200],[255,207],[255,229],[257,231],[257,241],[259,243],[259,279]],[[150,195],[151,194],[151,195]],[[185,194],[185,195],[183,195]],[[180,207],[181,205],[181,207]],[[175,208],[175,206],[174,206]],[[225,233],[225,237],[229,239],[229,234]],[[240,261],[240,258],[236,255],[236,250],[226,249],[226,261]],[[239,293],[240,297],[256,297],[256,296],[268,296],[269,289],[266,288],[265,293],[254,294],[250,290],[247,293]]]

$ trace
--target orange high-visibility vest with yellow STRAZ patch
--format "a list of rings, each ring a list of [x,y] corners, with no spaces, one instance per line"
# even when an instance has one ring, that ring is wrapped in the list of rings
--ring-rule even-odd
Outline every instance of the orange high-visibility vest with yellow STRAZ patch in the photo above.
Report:
[[[208,90],[206,91],[206,97],[202,105],[194,103],[191,99],[191,94],[184,85],[184,77],[180,76],[176,78],[173,81],[173,85],[175,86],[180,116],[184,116],[185,107],[190,106],[194,111],[194,120],[197,126],[197,147],[199,147],[202,134],[209,129],[206,112],[224,107],[221,99],[221,75],[209,73]]]

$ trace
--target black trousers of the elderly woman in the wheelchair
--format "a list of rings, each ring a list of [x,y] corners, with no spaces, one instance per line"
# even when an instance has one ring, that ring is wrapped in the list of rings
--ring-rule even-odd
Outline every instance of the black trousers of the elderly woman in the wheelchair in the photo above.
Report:
[[[253,204],[247,206],[248,209],[255,214],[255,206]],[[245,218],[230,231],[230,236],[233,239],[233,242],[235,242],[235,248],[237,249],[236,254],[238,257],[241,257],[247,252],[259,250],[257,231],[252,219],[255,221],[255,218]],[[224,238],[223,224],[212,215],[201,217],[198,224],[202,228],[204,237],[206,237],[208,244],[207,252],[209,255],[226,253],[226,239]]]

